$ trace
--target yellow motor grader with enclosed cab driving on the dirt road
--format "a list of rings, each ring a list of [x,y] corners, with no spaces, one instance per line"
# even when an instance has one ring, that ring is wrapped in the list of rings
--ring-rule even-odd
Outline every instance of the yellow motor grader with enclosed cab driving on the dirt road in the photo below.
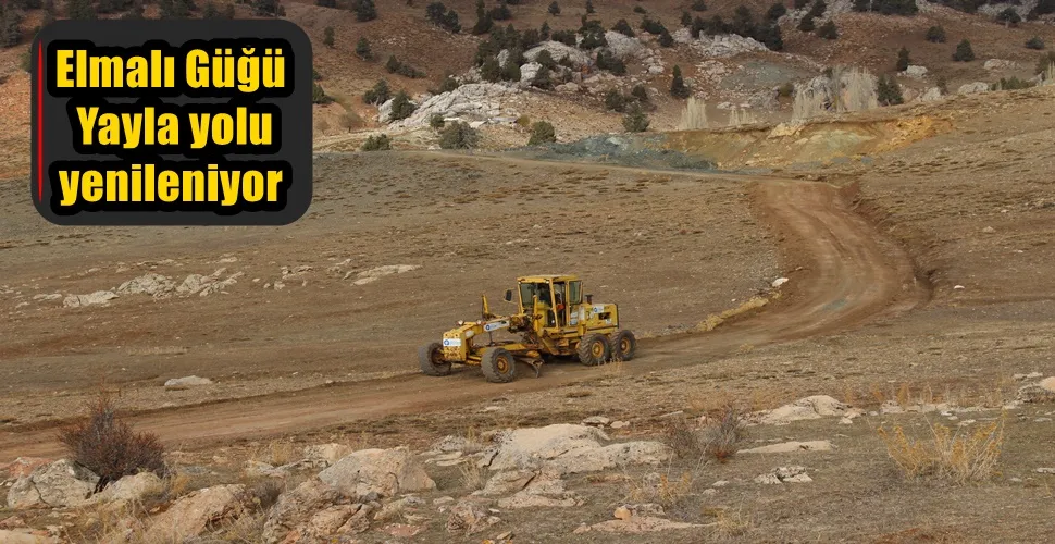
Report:
[[[517,362],[530,364],[537,378],[545,356],[575,356],[588,367],[634,358],[637,339],[619,329],[613,304],[595,304],[583,295],[574,275],[532,275],[517,279],[519,311],[491,312],[482,296],[481,319],[459,321],[457,329],[418,350],[418,363],[427,375],[450,374],[454,363],[480,366],[489,382],[517,379]],[[505,299],[513,302],[512,289]],[[584,300],[585,299],[585,300]],[[496,341],[495,333],[520,334],[519,341]]]

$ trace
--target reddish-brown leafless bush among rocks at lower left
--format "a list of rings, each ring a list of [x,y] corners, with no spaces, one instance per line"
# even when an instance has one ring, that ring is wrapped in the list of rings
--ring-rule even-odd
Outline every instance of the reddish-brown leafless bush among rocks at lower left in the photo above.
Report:
[[[59,433],[73,460],[99,475],[96,491],[137,472],[165,474],[164,446],[152,433],[135,432],[116,416],[113,399],[101,393],[86,405],[87,417]]]

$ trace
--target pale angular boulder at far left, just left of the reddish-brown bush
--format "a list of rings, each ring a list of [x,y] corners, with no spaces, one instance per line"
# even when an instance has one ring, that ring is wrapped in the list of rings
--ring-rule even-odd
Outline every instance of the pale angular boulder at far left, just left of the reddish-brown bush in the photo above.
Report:
[[[8,490],[8,508],[80,506],[99,483],[99,477],[69,459],[37,467]]]

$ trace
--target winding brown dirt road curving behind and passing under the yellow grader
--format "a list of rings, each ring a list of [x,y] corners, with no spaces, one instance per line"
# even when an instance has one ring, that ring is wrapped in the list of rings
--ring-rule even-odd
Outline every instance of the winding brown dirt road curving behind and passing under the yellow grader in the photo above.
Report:
[[[853,210],[845,191],[812,182],[745,181],[755,212],[780,235],[784,269],[796,270],[784,296],[749,319],[709,333],[644,339],[638,358],[626,366],[628,372],[691,366],[744,344],[758,346],[823,334],[905,311],[927,299],[928,290],[916,281],[908,256]],[[578,364],[547,367],[541,379],[524,378],[501,391],[509,395],[549,388],[582,380],[591,372],[600,370]],[[493,396],[495,387],[472,371],[445,379],[400,375],[140,412],[132,422],[169,444],[193,447],[450,407]],[[54,429],[0,436],[0,461],[55,455],[54,436]]]

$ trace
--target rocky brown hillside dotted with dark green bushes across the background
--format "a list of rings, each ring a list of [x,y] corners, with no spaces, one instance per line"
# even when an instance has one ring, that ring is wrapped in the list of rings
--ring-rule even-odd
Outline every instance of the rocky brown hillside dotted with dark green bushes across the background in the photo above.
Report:
[[[367,22],[358,21],[355,3],[338,2],[336,8],[324,8],[309,1],[287,0],[281,3],[284,16],[300,25],[311,37],[314,65],[321,77],[319,84],[335,99],[334,103],[315,107],[314,124],[319,144],[326,149],[355,149],[365,137],[363,131],[369,133],[384,128],[395,137],[396,147],[434,147],[436,135],[427,129],[424,114],[409,125],[404,122],[386,126],[378,121],[376,104],[363,102],[363,94],[384,78],[393,94],[406,90],[414,103],[421,104],[427,100],[431,91],[440,87],[447,75],[472,82],[479,78],[479,74],[472,70],[477,48],[495,30],[473,35],[477,21],[474,0],[445,3],[447,10],[458,14],[461,26],[458,34],[430,22],[426,17],[427,2],[421,0],[380,2],[375,10],[376,18]],[[451,119],[483,123],[485,137],[482,145],[485,147],[523,145],[529,135],[529,120],[553,123],[558,139],[569,141],[596,133],[623,132],[623,112],[606,108],[606,94],[619,89],[625,95],[634,86],[641,85],[649,98],[646,107],[650,119],[648,128],[667,131],[678,126],[685,108],[683,99],[671,97],[669,92],[673,67],[679,66],[691,94],[706,103],[711,126],[724,126],[730,121],[777,123],[790,120],[793,114],[792,95],[795,92],[779,95],[781,86],[816,85],[811,79],[821,76],[827,69],[841,65],[861,66],[872,74],[894,74],[902,47],[909,50],[913,66],[922,66],[914,67],[913,75],[895,77],[904,99],[913,101],[924,98],[924,95],[927,99],[933,99],[944,91],[956,94],[964,85],[976,82],[992,84],[1002,77],[1029,79],[1034,76],[1038,59],[1046,51],[1029,49],[1026,42],[1037,37],[1045,45],[1055,45],[1055,26],[1048,14],[1014,25],[1000,22],[995,16],[1010,7],[1021,13],[1022,18],[1030,18],[1027,15],[1037,7],[1034,1],[1014,7],[982,4],[977,13],[968,14],[918,0],[918,13],[913,16],[859,13],[853,11],[853,2],[833,1],[820,7],[823,15],[816,18],[815,25],[820,27],[824,21],[832,20],[837,28],[836,39],[821,38],[816,32],[806,33],[797,28],[807,12],[818,9],[816,4],[795,9],[789,3],[787,13],[775,23],[780,28],[781,46],[770,44],[771,48],[778,50],[767,49],[733,34],[762,36],[759,29],[773,25],[767,18],[770,3],[716,1],[707,3],[705,11],[694,10],[694,3],[671,0],[598,1],[595,2],[594,13],[586,15],[585,2],[558,1],[560,14],[554,15],[548,12],[550,2],[516,2],[508,5],[511,18],[494,22],[493,28],[505,29],[512,25],[522,37],[521,44],[529,46],[529,49],[539,38],[529,38],[524,35],[525,30],[537,30],[545,24],[554,34],[561,30],[580,32],[584,15],[588,21],[598,22],[599,27],[606,30],[620,20],[625,20],[635,37],[613,36],[615,33],[609,32],[609,38],[619,38],[618,44],[575,53],[587,64],[586,67],[582,67],[579,61],[569,62],[569,65],[574,64],[573,70],[555,65],[554,88],[532,87],[532,82],[523,76],[525,79],[519,85],[498,82],[504,86],[499,87],[500,91],[494,88],[475,89],[475,94],[454,97],[456,107],[451,107],[451,100],[447,100],[445,106],[434,110]],[[26,5],[36,3],[30,1]],[[190,14],[220,16],[216,14],[224,13],[223,5],[222,2],[201,2]],[[489,12],[496,5],[496,2],[487,2],[485,8]],[[212,10],[211,7],[218,9]],[[234,14],[238,17],[253,16],[257,8],[256,4],[233,5]],[[749,11],[744,12],[743,8]],[[1046,11],[1043,5],[1038,10]],[[60,7],[59,16],[62,16],[62,11]],[[21,44],[0,52],[4,89],[0,100],[0,138],[8,150],[0,173],[8,176],[24,173],[28,168],[24,138],[28,129],[28,82],[20,66],[32,29],[45,17],[44,10],[23,12],[26,16],[21,24]],[[682,27],[683,13],[694,21],[699,18],[694,25],[695,29],[704,29],[702,38],[694,38],[688,28]],[[160,4],[145,7],[145,16],[159,17],[160,14]],[[117,12],[99,16],[123,15]],[[715,26],[715,17],[721,17],[724,27]],[[645,20],[659,22],[669,30],[673,38],[671,47],[663,47],[658,35],[642,29]],[[928,29],[933,26],[944,29],[943,42],[926,39]],[[333,29],[333,47],[325,44],[327,28]],[[709,37],[710,33],[718,34]],[[357,45],[363,38],[370,44],[369,60],[356,53]],[[582,39],[582,35],[579,39]],[[970,40],[976,60],[953,61],[953,52],[963,39]],[[436,47],[438,44],[442,47]],[[598,51],[612,51],[615,57],[620,58],[626,66],[625,75],[616,76],[611,69],[601,70]],[[390,57],[422,72],[424,76],[412,78],[389,73],[386,64]],[[521,70],[526,67],[521,66]],[[561,85],[562,82],[567,84]],[[940,87],[944,90],[936,90]],[[978,88],[980,86],[975,86],[973,90]],[[735,120],[732,120],[733,110],[736,110]],[[516,123],[518,120],[519,124]]]

